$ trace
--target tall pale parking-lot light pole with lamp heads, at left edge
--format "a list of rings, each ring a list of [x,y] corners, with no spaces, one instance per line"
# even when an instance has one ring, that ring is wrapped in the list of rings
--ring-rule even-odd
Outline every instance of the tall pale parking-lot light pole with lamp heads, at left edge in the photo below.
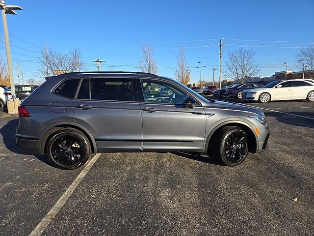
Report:
[[[2,14],[2,21],[3,21],[6,60],[8,62],[11,93],[13,96],[15,96],[15,86],[14,86],[14,77],[13,77],[13,69],[12,69],[9,32],[8,32],[8,25],[6,22],[5,14],[16,15],[17,13],[14,10],[23,10],[23,8],[20,6],[15,6],[15,5],[6,5],[4,0],[0,0],[0,8],[1,8],[1,14]]]

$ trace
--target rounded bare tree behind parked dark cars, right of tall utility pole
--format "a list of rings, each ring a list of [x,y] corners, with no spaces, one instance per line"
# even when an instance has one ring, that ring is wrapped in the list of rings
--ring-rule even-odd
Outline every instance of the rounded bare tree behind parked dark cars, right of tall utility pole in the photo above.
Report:
[[[259,64],[255,62],[254,56],[256,51],[252,49],[238,49],[228,53],[228,61],[226,62],[226,70],[223,72],[227,78],[244,83],[248,79],[260,73]]]

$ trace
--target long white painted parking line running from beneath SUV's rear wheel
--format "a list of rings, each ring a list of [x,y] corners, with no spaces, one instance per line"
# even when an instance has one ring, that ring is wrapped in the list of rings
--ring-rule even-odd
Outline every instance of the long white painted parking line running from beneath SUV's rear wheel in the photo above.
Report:
[[[66,201],[70,198],[74,190],[78,187],[80,181],[86,176],[90,168],[100,157],[100,154],[96,154],[90,162],[84,167],[81,173],[79,173],[78,177],[73,181],[73,183],[68,187],[68,189],[62,194],[59,200],[54,204],[54,206],[50,209],[50,211],[44,216],[44,218],[39,222],[36,228],[30,233],[30,236],[40,236],[48,227],[50,222],[53,220],[55,215],[59,212],[61,207],[66,203]]]

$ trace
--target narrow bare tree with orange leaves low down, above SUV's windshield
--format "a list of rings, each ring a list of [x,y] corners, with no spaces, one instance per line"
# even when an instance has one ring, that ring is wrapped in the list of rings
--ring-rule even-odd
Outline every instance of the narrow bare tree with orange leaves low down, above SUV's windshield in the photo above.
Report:
[[[177,56],[178,69],[176,69],[175,79],[183,85],[187,85],[190,81],[191,70],[188,68],[187,61],[184,55],[184,49],[179,48],[179,55]]]

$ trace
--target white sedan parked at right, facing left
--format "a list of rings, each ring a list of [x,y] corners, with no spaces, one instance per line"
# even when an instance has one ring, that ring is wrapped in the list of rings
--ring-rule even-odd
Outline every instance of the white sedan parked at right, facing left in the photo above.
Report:
[[[296,99],[314,102],[314,83],[300,79],[273,81],[262,88],[244,90],[242,99],[262,103]]]

